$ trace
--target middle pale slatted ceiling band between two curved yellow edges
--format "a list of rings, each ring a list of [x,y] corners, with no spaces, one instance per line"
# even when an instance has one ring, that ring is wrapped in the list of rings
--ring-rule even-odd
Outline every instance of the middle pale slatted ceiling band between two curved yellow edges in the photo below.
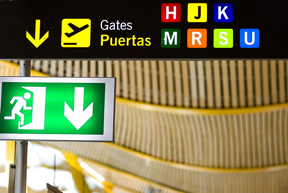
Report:
[[[259,113],[164,113],[116,103],[115,143],[171,162],[259,168],[288,162],[288,108]]]

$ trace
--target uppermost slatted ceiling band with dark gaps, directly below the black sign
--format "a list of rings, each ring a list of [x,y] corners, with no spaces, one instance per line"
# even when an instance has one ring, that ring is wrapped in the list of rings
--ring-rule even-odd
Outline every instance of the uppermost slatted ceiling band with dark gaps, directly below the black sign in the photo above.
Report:
[[[60,77],[117,77],[117,96],[160,105],[235,108],[288,101],[287,61],[35,61],[32,68]]]

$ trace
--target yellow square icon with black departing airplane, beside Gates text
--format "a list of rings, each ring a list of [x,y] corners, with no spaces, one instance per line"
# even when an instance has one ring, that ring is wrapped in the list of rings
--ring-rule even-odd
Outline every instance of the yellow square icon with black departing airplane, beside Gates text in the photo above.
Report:
[[[90,19],[63,19],[62,20],[62,47],[89,47],[91,36]]]

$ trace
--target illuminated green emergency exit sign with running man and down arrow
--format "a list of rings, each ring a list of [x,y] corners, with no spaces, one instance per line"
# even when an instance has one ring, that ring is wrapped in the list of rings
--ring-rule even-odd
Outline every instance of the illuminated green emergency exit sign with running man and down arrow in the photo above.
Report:
[[[114,139],[115,78],[1,77],[0,139]]]

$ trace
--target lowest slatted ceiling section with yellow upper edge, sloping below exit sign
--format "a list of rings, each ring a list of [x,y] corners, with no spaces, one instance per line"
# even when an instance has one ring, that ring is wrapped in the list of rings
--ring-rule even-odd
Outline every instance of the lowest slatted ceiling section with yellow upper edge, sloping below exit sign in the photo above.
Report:
[[[140,185],[145,180],[131,179],[125,171],[142,179],[153,181],[162,186],[181,192],[286,192],[288,189],[288,166],[271,166],[257,169],[215,169],[195,167],[185,164],[162,161],[157,158],[127,150],[109,143],[79,142],[43,142],[58,149],[73,151],[77,155],[88,158],[85,161],[91,168],[116,185],[122,185],[144,192]],[[91,151],[93,149],[93,151]],[[93,160],[93,161],[89,161]],[[105,167],[99,164],[105,164]],[[131,164],[133,163],[133,164]],[[133,183],[132,181],[138,181]],[[151,183],[155,186],[155,183]],[[163,192],[176,192],[158,186]]]

